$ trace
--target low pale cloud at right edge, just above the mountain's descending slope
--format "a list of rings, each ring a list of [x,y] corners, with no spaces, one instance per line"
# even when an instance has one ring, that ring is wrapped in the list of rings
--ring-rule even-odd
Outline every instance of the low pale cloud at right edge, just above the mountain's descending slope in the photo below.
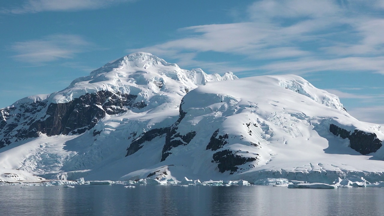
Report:
[[[384,106],[369,106],[369,107],[352,108],[351,110],[348,110],[348,113],[360,121],[366,121],[366,122],[384,125],[383,110],[384,110]]]

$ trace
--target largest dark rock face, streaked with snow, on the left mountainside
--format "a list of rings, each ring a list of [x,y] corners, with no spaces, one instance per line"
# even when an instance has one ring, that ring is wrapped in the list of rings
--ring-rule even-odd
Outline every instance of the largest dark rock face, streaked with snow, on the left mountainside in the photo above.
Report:
[[[89,130],[108,115],[143,108],[145,103],[135,103],[136,95],[98,91],[86,93],[68,103],[50,103],[48,99],[24,103],[18,107],[4,108],[0,114],[0,148],[12,142],[38,137],[80,134]],[[9,123],[8,123],[9,122]]]

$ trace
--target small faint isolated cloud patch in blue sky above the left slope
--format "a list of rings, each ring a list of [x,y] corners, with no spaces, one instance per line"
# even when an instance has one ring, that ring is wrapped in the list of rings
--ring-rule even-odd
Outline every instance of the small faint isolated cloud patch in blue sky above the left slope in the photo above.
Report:
[[[16,42],[11,50],[18,61],[34,64],[73,58],[76,53],[86,51],[92,44],[79,35],[49,35],[39,40]]]

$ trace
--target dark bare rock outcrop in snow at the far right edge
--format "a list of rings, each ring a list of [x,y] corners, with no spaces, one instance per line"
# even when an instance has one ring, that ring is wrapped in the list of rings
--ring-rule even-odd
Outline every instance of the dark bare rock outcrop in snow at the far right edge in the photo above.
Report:
[[[351,148],[362,155],[376,152],[382,146],[382,141],[377,138],[375,133],[367,133],[361,130],[354,130],[351,133],[351,131],[347,131],[334,124],[329,125],[329,131],[343,139],[348,138]]]

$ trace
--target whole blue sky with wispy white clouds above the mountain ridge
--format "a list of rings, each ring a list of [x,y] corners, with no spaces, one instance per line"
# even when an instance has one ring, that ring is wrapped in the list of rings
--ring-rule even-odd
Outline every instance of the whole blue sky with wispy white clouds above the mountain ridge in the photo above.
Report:
[[[239,78],[296,74],[384,124],[384,0],[1,0],[0,50],[0,107],[140,51]]]

